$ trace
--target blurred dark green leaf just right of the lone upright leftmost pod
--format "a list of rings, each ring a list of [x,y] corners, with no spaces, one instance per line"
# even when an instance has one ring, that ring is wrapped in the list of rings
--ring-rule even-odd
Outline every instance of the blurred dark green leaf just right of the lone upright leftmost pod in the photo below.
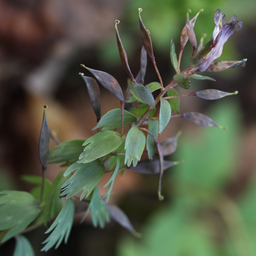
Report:
[[[67,140],[54,146],[49,151],[49,164],[56,164],[69,161],[71,164],[78,160],[81,152],[84,150],[84,140]]]

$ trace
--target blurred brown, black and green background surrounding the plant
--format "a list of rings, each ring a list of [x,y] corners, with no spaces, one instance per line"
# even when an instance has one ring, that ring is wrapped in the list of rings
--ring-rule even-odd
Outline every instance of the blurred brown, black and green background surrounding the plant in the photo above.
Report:
[[[178,54],[187,9],[192,11],[190,18],[204,9],[194,28],[198,42],[203,33],[207,34],[205,40],[211,37],[217,9],[227,20],[234,14],[243,20],[243,29],[229,38],[219,60],[247,58],[245,68],[205,73],[217,82],[194,80],[189,90],[238,90],[239,94],[213,102],[190,97],[180,103],[182,112],[202,112],[228,129],[171,120],[160,140],[181,130],[171,160],[184,163],[165,172],[163,202],[157,200],[157,175],[127,171],[117,180],[121,185],[115,184],[113,201],[142,233],[141,239],[113,222],[104,230],[86,222],[75,224],[68,244],[47,255],[256,255],[256,2],[252,0],[1,0],[0,189],[29,190],[20,175],[40,175],[37,143],[44,104],[49,107],[49,126],[61,141],[92,134],[96,120],[78,76],[84,72],[80,63],[110,73],[125,89],[127,76],[119,60],[114,21],[120,20],[119,33],[136,75],[141,48],[139,7],[164,84],[174,75],[170,42],[173,39]],[[188,66],[191,53],[188,43],[182,68]],[[152,81],[157,76],[148,61],[146,83]],[[103,114],[119,107],[118,100],[104,89],[101,99]],[[60,170],[49,167],[47,177],[54,179]],[[36,255],[45,255],[39,252],[45,230],[26,234]],[[14,241],[8,241],[0,253],[12,255],[13,245]]]

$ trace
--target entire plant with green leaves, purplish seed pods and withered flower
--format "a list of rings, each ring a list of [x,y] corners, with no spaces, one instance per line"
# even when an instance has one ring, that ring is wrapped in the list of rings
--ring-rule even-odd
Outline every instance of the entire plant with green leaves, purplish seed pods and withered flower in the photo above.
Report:
[[[92,130],[97,130],[97,132],[87,140],[64,141],[49,151],[51,132],[46,121],[44,109],[43,124],[39,138],[39,159],[42,165],[42,178],[25,178],[27,181],[37,185],[31,193],[12,190],[0,193],[0,210],[3,212],[0,216],[0,237],[2,242],[28,229],[42,224],[48,225],[54,217],[55,220],[46,231],[46,234],[52,233],[43,242],[45,245],[42,251],[46,252],[54,245],[55,248],[58,248],[63,239],[67,243],[73,225],[73,217],[77,207],[75,199],[77,198],[80,201],[87,202],[88,205],[83,209],[86,212],[81,222],[90,212],[92,224],[95,227],[99,225],[103,228],[112,218],[128,229],[134,236],[140,236],[125,213],[117,206],[108,204],[116,175],[120,171],[129,169],[143,174],[158,174],[157,195],[159,200],[163,200],[164,197],[161,191],[163,173],[168,168],[182,162],[164,159],[165,156],[170,156],[175,152],[178,137],[180,136],[180,132],[177,132],[175,136],[167,138],[161,143],[159,142],[158,136],[164,131],[169,121],[172,118],[181,117],[201,126],[225,128],[216,124],[210,117],[202,113],[180,113],[179,99],[181,97],[197,96],[214,100],[237,93],[207,89],[179,94],[174,87],[179,85],[182,89],[189,89],[191,87],[190,78],[214,80],[208,76],[198,75],[197,73],[200,70],[222,71],[240,65],[244,67],[245,65],[245,59],[239,61],[213,61],[215,57],[219,57],[223,44],[228,37],[233,34],[235,29],[239,30],[242,26],[242,22],[237,21],[235,16],[228,22],[224,18],[221,19],[224,14],[219,9],[214,15],[216,26],[213,31],[213,39],[208,41],[206,46],[199,44],[197,48],[193,28],[197,16],[202,11],[201,9],[191,20],[189,20],[190,11],[188,11],[186,25],[181,32],[179,54],[176,54],[175,45],[171,41],[170,57],[176,74],[167,85],[164,85],[156,65],[151,37],[141,18],[142,9],[139,8],[139,24],[143,45],[141,47],[140,71],[135,77],[129,67],[127,55],[117,29],[119,21],[116,20],[115,30],[120,59],[130,79],[127,84],[126,97],[124,97],[120,84],[112,75],[104,71],[88,68],[83,64],[81,65],[86,69],[86,72],[89,71],[96,78],[85,76],[84,73],[79,74],[82,76],[89,92],[92,108],[96,115],[95,121],[97,122]],[[226,32],[227,30],[228,32]],[[192,57],[188,61],[190,63],[189,66],[180,71],[182,52],[188,41],[193,46]],[[155,68],[159,82],[153,81],[149,84],[144,84],[147,55]],[[121,104],[121,108],[112,109],[102,117],[99,100],[100,86],[97,81],[113,93]],[[154,95],[157,96],[155,97]],[[157,108],[159,109],[159,115],[155,114],[157,113]],[[172,111],[175,114],[172,114]],[[140,160],[142,157],[144,158],[143,153],[146,151],[148,159]],[[45,179],[47,159],[48,164],[60,163],[62,167],[67,167],[66,171],[61,172],[53,182]],[[108,192],[101,198],[98,184],[106,172],[111,172],[112,176],[104,186],[108,186]],[[79,193],[80,195],[77,196]],[[66,203],[63,206],[61,198],[64,196]],[[105,201],[102,200],[104,198]],[[183,221],[183,215],[177,215],[176,217],[179,221]],[[193,223],[182,223],[184,232],[187,232],[190,226],[194,227]],[[205,232],[204,228],[198,230],[198,236],[195,236],[194,239],[202,237]],[[16,239],[16,248],[24,244],[24,248],[27,248],[26,253],[33,255],[27,239],[23,236],[17,236]],[[159,236],[159,239],[162,239],[162,236]],[[18,249],[15,249],[14,255],[17,253]],[[184,253],[187,252],[184,251]]]

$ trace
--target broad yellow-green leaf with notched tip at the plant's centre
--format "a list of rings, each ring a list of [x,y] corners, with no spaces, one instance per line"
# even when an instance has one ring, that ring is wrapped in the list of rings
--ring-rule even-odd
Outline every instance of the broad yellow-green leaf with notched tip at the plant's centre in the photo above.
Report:
[[[84,142],[83,146],[86,147],[77,163],[90,163],[105,156],[118,148],[123,141],[118,132],[109,130],[98,132]]]

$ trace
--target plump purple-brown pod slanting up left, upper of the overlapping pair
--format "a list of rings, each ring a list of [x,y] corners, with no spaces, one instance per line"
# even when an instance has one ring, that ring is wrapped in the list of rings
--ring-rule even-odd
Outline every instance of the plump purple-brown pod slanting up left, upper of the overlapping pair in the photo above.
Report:
[[[82,65],[82,67],[89,70],[92,73],[92,75],[98,79],[100,84],[103,87],[105,87],[109,92],[112,92],[119,100],[124,100],[124,95],[121,86],[118,84],[115,77],[103,71],[87,68],[84,65]]]

